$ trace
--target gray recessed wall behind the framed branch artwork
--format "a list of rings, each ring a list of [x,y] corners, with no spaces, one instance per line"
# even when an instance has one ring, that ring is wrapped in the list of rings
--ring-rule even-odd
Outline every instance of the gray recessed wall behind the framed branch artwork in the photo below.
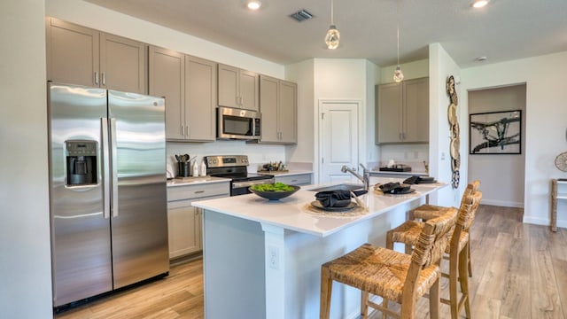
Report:
[[[469,155],[469,180],[481,181],[483,204],[524,206],[525,92],[525,84],[469,91],[470,114],[522,110],[521,155]]]

